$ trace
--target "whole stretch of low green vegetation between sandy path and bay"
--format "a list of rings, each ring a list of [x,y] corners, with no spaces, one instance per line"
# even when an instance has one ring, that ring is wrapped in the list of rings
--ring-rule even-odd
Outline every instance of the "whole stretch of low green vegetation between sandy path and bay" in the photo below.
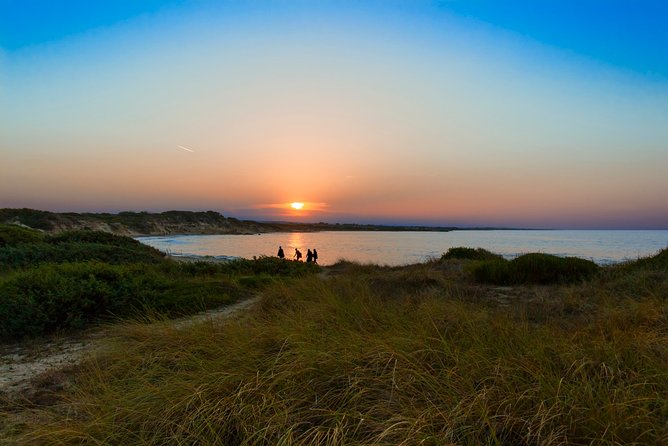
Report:
[[[190,314],[317,269],[273,258],[177,263],[132,238],[94,231],[48,235],[0,225],[0,243],[0,339],[137,314]]]

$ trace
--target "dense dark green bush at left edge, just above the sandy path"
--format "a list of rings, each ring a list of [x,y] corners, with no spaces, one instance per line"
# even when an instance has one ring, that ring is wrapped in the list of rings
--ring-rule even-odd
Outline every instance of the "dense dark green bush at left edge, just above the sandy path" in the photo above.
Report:
[[[83,328],[138,309],[166,310],[160,293],[169,286],[141,264],[47,264],[17,272],[0,284],[0,338]]]

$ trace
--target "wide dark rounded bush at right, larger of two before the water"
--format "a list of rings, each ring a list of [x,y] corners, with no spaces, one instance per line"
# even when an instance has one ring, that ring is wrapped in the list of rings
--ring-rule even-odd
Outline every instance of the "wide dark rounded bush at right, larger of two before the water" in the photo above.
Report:
[[[473,268],[477,282],[495,285],[573,283],[592,277],[599,267],[577,257],[525,254],[511,261],[486,261]]]

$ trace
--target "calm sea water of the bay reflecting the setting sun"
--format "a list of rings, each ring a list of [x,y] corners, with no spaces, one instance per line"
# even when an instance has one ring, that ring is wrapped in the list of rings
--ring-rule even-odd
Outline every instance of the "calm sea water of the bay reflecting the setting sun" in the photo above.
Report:
[[[655,254],[668,247],[662,231],[452,231],[452,232],[294,232],[261,235],[182,235],[140,237],[161,251],[177,255],[252,258],[276,255],[282,245],[286,257],[295,248],[306,257],[318,250],[320,264],[339,259],[386,265],[418,263],[438,258],[449,248],[485,248],[512,258],[527,252],[591,259],[610,264]]]

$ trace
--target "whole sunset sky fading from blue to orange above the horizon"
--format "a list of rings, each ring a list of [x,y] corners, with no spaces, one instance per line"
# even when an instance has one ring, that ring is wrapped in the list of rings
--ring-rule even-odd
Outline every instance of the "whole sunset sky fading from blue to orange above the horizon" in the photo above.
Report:
[[[0,0],[0,207],[668,229],[665,23],[647,0]]]

